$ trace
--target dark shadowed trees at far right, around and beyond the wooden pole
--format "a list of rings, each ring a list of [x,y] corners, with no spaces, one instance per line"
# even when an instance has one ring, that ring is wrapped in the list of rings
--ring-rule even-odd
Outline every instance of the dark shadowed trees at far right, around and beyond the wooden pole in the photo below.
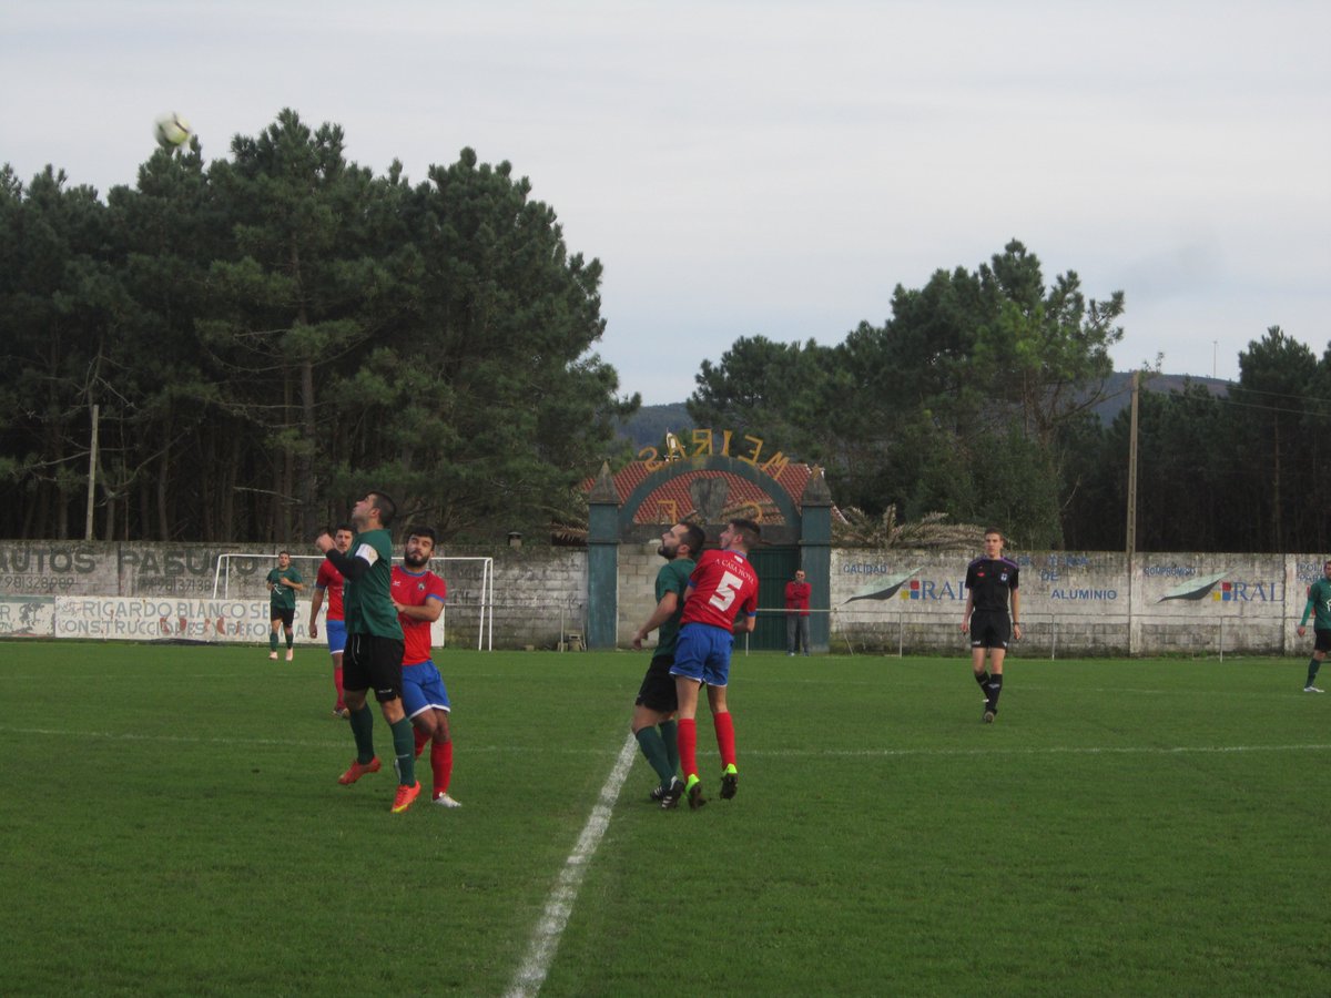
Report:
[[[1324,551],[1331,354],[1272,327],[1239,354],[1239,381],[1143,389],[1138,411],[1137,547],[1141,551]],[[1147,382],[1149,386],[1149,382]],[[1130,414],[1079,454],[1067,543],[1122,548]]]

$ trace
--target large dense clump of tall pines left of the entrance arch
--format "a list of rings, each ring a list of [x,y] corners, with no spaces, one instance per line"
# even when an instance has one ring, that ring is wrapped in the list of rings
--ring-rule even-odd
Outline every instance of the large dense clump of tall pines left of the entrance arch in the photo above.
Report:
[[[508,164],[413,186],[291,110],[230,153],[105,204],[0,173],[0,532],[81,535],[93,405],[102,538],[287,542],[370,487],[502,536],[622,450],[600,263]]]

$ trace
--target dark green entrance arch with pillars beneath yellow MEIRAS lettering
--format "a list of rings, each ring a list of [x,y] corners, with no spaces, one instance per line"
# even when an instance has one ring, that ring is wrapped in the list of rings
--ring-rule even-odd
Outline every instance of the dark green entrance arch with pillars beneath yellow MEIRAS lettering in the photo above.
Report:
[[[676,458],[664,462],[662,467],[648,474],[620,503],[619,490],[615,487],[610,467],[603,466],[587,496],[590,507],[587,518],[587,645],[590,648],[614,648],[619,639],[619,546],[622,543],[643,543],[656,538],[669,526],[668,522],[664,524],[636,523],[638,511],[650,496],[675,479],[693,475],[688,483],[688,495],[693,510],[701,514],[705,520],[704,526],[713,538],[715,528],[723,526],[727,516],[721,511],[729,498],[728,482],[720,475],[699,475],[697,472],[735,475],[757,486],[771,499],[784,522],[772,526],[763,524],[764,544],[797,547],[799,563],[808,572],[813,585],[811,607],[815,611],[828,609],[832,571],[832,495],[820,470],[813,470],[803,495],[796,502],[795,496],[775,476],[752,462],[720,454]],[[683,516],[685,512],[688,511],[681,510],[679,515]],[[781,582],[784,584],[785,580]],[[772,584],[771,579],[761,580],[764,587]],[[828,635],[827,612],[815,612],[809,620],[812,648],[825,652]]]

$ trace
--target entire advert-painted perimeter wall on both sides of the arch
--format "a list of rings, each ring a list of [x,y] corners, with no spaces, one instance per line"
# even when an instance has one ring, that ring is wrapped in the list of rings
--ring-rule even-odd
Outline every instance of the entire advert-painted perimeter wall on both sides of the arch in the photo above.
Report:
[[[226,558],[220,559],[220,555]],[[449,583],[437,641],[555,648],[586,633],[587,555],[578,548],[447,548],[435,564]],[[0,542],[0,635],[261,641],[264,576],[276,550],[205,544]],[[479,559],[494,559],[484,578]],[[471,560],[461,560],[471,559]],[[294,562],[313,582],[319,558]],[[833,651],[958,655],[964,556],[832,552]],[[1294,633],[1322,555],[1017,555],[1024,656],[1303,653]],[[218,572],[218,564],[222,571]],[[655,607],[656,542],[619,548],[618,633],[627,645]],[[494,601],[484,591],[492,583]],[[217,595],[214,597],[214,585]],[[305,636],[309,597],[297,609]]]

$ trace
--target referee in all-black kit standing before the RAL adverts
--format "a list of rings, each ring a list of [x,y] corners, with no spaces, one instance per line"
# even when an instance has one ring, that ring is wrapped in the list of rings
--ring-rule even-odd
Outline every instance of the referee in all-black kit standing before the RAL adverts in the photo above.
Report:
[[[970,668],[985,692],[984,723],[993,724],[1002,693],[1002,660],[1008,641],[1021,640],[1021,599],[1017,592],[1017,563],[1002,556],[1004,536],[985,531],[985,554],[966,566],[966,611],[961,633],[970,635]],[[1012,596],[1012,615],[1008,597]],[[989,668],[985,669],[985,655]]]

